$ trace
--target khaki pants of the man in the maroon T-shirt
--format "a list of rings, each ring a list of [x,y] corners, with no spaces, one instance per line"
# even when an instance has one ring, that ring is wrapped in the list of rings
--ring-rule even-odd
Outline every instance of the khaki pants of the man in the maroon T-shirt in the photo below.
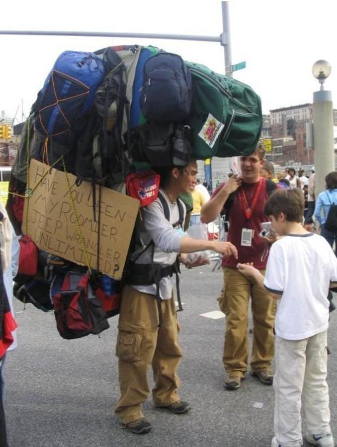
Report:
[[[250,366],[254,371],[270,370],[274,355],[276,300],[236,269],[224,269],[224,282],[220,308],[226,315],[223,362],[227,374],[242,377],[247,370],[249,296],[254,322]]]

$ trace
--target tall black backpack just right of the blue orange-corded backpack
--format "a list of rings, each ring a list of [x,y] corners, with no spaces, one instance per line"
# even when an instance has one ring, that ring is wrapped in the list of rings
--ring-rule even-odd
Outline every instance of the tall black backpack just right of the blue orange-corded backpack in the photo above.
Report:
[[[122,122],[129,116],[126,71],[117,53],[108,47],[103,60],[107,76],[96,91],[88,125],[78,141],[75,172],[79,179],[111,186],[123,180]]]

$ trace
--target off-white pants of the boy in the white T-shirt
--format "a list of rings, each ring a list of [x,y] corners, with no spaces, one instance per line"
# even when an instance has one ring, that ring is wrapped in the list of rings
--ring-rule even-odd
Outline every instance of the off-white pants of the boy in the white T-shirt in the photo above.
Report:
[[[331,433],[327,385],[327,331],[303,340],[276,337],[274,429],[285,447],[302,445],[301,394],[312,435]]]

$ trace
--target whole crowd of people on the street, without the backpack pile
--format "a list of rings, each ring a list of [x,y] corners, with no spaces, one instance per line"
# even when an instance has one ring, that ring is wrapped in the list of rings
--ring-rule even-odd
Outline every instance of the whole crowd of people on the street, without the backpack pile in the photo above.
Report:
[[[225,389],[239,389],[248,370],[262,384],[273,385],[272,447],[302,445],[302,397],[307,441],[333,447],[326,381],[327,297],[337,282],[337,257],[332,250],[337,230],[331,231],[326,223],[337,201],[337,173],[327,175],[327,189],[318,196],[315,206],[314,168],[310,179],[302,170],[296,176],[293,168],[275,177],[273,165],[265,160],[263,146],[258,145],[251,155],[240,157],[240,170],[240,175],[233,174],[210,197],[197,180],[196,161],[184,167],[160,169],[160,197],[141,209],[137,218],[129,274],[121,294],[115,348],[120,397],[115,413],[121,428],[138,435],[151,431],[142,409],[150,394],[150,367],[154,405],[177,415],[190,410],[190,404],[178,391],[182,350],[171,277],[178,274],[178,264],[193,268],[209,262],[206,256],[195,259],[190,253],[215,250],[223,256],[224,284],[219,304],[225,314]],[[225,241],[194,239],[186,234],[187,209],[180,199],[186,193],[193,197],[191,224],[210,223],[219,215],[226,216],[229,227]],[[0,211],[7,222],[5,211]],[[322,235],[312,231],[313,215]],[[16,328],[8,311],[18,244],[10,224],[6,234],[0,241],[0,317],[6,315],[8,319],[7,326],[2,325],[6,329],[0,338],[0,385],[4,355],[14,346]],[[6,256],[2,256],[3,251]],[[312,265],[318,269],[315,276],[311,274]],[[253,317],[250,355],[249,303]],[[0,390],[0,429],[5,434],[2,387]],[[5,435],[0,447],[7,447]]]

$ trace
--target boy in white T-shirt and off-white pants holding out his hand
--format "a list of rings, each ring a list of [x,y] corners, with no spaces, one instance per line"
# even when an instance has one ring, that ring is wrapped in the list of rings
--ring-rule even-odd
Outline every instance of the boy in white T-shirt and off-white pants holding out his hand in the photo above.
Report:
[[[237,268],[279,299],[272,447],[302,445],[301,396],[307,441],[334,447],[326,381],[327,296],[331,282],[337,281],[337,258],[324,237],[303,228],[300,190],[275,191],[264,211],[275,232],[284,237],[271,246],[265,277],[252,265],[238,264]]]

